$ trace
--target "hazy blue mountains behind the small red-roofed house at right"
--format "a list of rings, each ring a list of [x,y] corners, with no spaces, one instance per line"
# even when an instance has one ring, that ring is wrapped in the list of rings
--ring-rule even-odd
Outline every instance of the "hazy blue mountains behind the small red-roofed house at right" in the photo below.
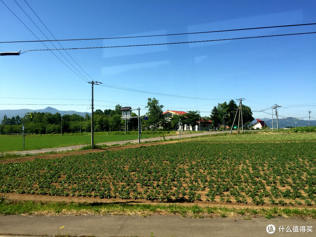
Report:
[[[264,119],[261,119],[264,121]],[[252,124],[256,123],[257,119],[252,121]],[[295,124],[296,122],[296,124]],[[265,124],[272,128],[272,119],[265,119]],[[279,128],[286,127],[308,127],[308,119],[295,119],[295,118],[280,118],[279,117]],[[310,121],[310,126],[316,126],[316,120]],[[276,119],[273,119],[273,127],[277,128]]]

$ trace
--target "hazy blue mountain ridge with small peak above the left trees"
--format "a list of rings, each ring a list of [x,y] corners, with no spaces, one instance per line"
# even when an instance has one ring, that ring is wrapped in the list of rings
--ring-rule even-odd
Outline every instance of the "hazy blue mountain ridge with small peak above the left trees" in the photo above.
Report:
[[[47,107],[45,109],[3,109],[3,110],[0,110],[0,123],[3,119],[3,116],[6,115],[8,118],[12,118],[12,116],[16,116],[16,115],[19,115],[20,117],[24,117],[25,114],[29,113],[29,112],[50,112],[52,114],[55,114],[55,113],[60,113],[61,116],[65,115],[65,114],[78,114],[82,117],[85,117],[86,116],[86,113],[87,112],[77,112],[77,111],[73,111],[73,110],[69,110],[69,111],[61,111],[61,110],[58,110],[58,109],[55,109],[55,108],[52,108],[52,107]],[[89,116],[91,116],[91,113],[88,113]]]

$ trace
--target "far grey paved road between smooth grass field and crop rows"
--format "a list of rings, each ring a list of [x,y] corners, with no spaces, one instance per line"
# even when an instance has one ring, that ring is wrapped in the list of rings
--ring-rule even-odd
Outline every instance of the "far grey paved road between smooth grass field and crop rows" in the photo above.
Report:
[[[216,133],[227,133],[229,131],[204,131],[202,133],[193,133],[193,134],[185,134],[181,132],[181,137],[198,137],[202,135],[209,135],[209,134],[216,134]],[[179,135],[173,135],[173,136],[165,136],[165,139],[179,139]],[[140,142],[146,142],[146,141],[159,141],[163,140],[163,137],[151,137],[151,138],[145,138],[140,139]],[[119,142],[110,142],[110,143],[98,143],[97,145],[112,145],[112,144],[124,144],[124,143],[138,143],[138,139],[136,140],[126,140],[126,141],[119,141]],[[40,150],[28,150],[28,151],[14,151],[9,152],[10,154],[17,154],[17,155],[26,155],[26,154],[39,154],[39,153],[45,153],[45,152],[60,152],[60,151],[68,151],[68,150],[74,150],[74,149],[80,149],[86,145],[76,145],[76,146],[69,146],[69,147],[58,147],[58,148],[47,148],[47,149],[40,149]]]

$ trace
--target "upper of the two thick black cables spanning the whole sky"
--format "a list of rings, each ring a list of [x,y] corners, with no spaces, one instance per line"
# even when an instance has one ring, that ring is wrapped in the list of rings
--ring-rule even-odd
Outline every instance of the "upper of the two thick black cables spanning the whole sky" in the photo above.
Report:
[[[253,28],[242,28],[242,29],[231,29],[231,30],[215,30],[215,31],[191,32],[191,33],[178,33],[178,34],[157,34],[157,35],[142,35],[142,36],[125,36],[125,37],[109,37],[109,38],[90,38],[90,39],[66,39],[66,40],[56,40],[56,39],[55,39],[55,40],[3,41],[3,42],[0,42],[0,43],[27,43],[27,42],[47,42],[47,41],[130,39],[130,38],[144,38],[144,37],[158,37],[158,36],[172,36],[172,35],[218,33],[218,32],[229,32],[229,31],[255,30],[255,29],[269,29],[269,28],[277,28],[277,27],[293,27],[293,26],[308,26],[308,25],[316,25],[316,23],[297,24],[297,25],[283,25],[283,26],[253,27]],[[55,38],[55,37],[54,37],[54,38]]]

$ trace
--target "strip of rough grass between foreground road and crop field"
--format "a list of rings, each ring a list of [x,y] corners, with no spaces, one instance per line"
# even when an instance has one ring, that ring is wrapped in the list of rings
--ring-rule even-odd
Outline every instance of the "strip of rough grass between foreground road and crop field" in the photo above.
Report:
[[[316,209],[289,209],[289,208],[227,208],[205,207],[199,205],[178,204],[126,204],[126,203],[66,203],[66,202],[10,202],[0,196],[1,215],[181,215],[183,217],[243,217],[250,220],[252,217],[263,216],[267,219],[276,216],[316,218]]]

